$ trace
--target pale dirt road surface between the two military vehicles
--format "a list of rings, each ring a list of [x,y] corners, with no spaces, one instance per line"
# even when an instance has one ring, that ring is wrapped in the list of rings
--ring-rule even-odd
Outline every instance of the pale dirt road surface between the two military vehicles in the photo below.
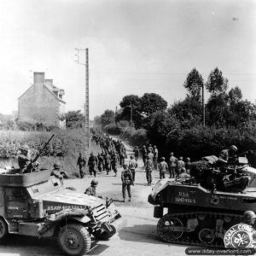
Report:
[[[127,146],[128,155],[131,148]],[[143,161],[138,161],[135,186],[132,187],[131,202],[121,202],[121,178],[113,172],[109,175],[102,173],[97,178],[99,185],[98,195],[112,197],[118,207],[125,226],[119,230],[109,241],[93,241],[93,247],[88,255],[112,255],[112,256],[156,256],[156,255],[185,255],[184,246],[170,245],[159,240],[156,233],[158,219],[153,218],[154,207],[148,203],[148,194],[151,187],[146,185],[146,176],[143,170]],[[65,185],[75,187],[79,192],[84,192],[90,185],[93,177],[84,179],[69,179]],[[153,183],[159,179],[159,173],[153,172]],[[0,256],[3,255],[62,255],[56,241],[49,239],[35,239],[30,237],[11,236],[8,241],[0,245]]]

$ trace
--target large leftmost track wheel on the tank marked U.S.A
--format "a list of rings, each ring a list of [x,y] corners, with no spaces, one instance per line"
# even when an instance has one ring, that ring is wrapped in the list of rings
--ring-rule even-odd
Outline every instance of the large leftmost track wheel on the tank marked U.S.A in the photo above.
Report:
[[[177,230],[173,230],[173,228]],[[183,223],[179,218],[174,218],[170,214],[166,214],[160,218],[157,224],[157,233],[160,239],[172,242],[183,236]]]

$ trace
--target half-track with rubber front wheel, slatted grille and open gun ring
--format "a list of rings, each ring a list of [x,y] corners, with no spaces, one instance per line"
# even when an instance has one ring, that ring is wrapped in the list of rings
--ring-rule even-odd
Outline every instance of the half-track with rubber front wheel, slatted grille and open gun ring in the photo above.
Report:
[[[0,169],[1,240],[9,234],[57,237],[63,253],[82,255],[92,236],[113,236],[119,218],[111,201],[64,188],[49,170]]]

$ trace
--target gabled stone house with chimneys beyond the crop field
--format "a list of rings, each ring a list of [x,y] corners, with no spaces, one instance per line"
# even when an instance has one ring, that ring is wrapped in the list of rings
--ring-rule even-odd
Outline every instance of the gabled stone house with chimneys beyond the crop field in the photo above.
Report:
[[[44,73],[34,73],[33,84],[18,99],[18,120],[32,124],[65,128],[61,116],[65,113],[64,90],[56,87]]]

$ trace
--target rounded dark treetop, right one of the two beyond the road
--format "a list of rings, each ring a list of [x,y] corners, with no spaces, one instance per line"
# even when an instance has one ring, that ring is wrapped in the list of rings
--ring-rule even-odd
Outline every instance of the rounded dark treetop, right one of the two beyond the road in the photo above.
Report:
[[[156,93],[145,93],[141,98],[141,112],[147,116],[166,108],[167,102]]]

